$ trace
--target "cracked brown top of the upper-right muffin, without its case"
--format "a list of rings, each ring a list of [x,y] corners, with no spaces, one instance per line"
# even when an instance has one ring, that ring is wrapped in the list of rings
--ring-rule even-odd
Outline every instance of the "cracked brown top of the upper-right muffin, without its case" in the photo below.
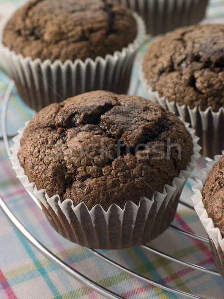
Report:
[[[160,97],[217,112],[224,107],[224,24],[168,33],[147,49],[142,69]]]

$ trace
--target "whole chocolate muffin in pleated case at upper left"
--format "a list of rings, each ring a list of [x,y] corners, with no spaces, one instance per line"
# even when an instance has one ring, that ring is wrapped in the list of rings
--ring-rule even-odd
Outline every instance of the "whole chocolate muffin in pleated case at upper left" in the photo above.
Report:
[[[141,17],[113,0],[32,0],[8,20],[0,53],[38,112],[92,90],[126,94],[144,37]]]

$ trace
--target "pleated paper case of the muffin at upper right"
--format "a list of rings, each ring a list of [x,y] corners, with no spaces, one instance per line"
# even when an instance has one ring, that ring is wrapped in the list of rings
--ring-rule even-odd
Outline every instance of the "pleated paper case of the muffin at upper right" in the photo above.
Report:
[[[201,154],[213,158],[224,149],[224,108],[214,112],[211,107],[202,111],[200,107],[191,109],[188,105],[180,106],[177,102],[169,102],[165,97],[159,97],[157,91],[147,84],[142,69],[139,70],[140,81],[148,94],[150,101],[159,103],[164,108],[181,117],[184,122],[190,123],[200,138]]]

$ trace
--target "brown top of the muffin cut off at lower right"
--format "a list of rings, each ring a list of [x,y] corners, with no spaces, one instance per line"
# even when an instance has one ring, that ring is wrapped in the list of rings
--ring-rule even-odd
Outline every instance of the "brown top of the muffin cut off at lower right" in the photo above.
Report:
[[[210,171],[202,196],[208,216],[224,237],[224,155]]]

